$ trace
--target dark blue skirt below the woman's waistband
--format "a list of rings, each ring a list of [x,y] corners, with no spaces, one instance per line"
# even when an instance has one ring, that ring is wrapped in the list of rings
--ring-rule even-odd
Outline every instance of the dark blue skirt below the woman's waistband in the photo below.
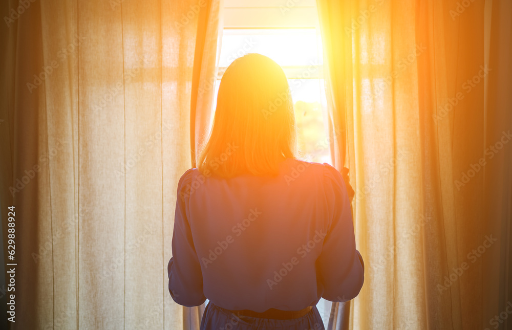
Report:
[[[204,309],[200,330],[325,330],[316,306],[308,314],[291,320],[239,316],[211,301]]]

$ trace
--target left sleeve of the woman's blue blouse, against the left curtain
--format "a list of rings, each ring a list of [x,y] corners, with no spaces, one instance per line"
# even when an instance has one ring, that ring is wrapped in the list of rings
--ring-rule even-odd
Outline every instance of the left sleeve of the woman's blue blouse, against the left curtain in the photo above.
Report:
[[[180,305],[187,307],[199,306],[206,300],[201,265],[187,217],[187,187],[189,189],[191,185],[191,172],[192,169],[187,170],[178,183],[172,241],[173,257],[167,266],[170,296]]]

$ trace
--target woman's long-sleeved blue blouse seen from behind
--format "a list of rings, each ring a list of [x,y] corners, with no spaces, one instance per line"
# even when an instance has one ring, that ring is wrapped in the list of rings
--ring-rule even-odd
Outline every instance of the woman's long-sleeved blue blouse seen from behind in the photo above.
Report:
[[[342,175],[327,163],[280,166],[274,178],[182,175],[167,267],[174,301],[298,311],[358,295],[364,262]]]

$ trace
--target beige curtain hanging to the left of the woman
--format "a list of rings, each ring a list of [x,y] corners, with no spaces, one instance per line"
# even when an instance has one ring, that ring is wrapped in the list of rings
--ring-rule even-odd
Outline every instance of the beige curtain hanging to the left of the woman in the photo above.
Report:
[[[12,328],[193,327],[170,298],[166,265],[176,187],[192,163],[192,88],[211,78],[218,4],[2,5],[0,196],[2,216],[16,210]],[[207,95],[196,113],[209,111]],[[4,243],[7,228],[3,218]]]

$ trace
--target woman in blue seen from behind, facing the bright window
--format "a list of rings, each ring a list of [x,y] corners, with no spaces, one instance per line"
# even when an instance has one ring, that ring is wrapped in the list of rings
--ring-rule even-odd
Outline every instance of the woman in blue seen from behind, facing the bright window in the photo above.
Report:
[[[324,329],[316,303],[359,293],[349,197],[329,164],[295,159],[288,81],[248,54],[222,77],[197,168],[178,183],[169,292],[209,303],[201,329]]]

